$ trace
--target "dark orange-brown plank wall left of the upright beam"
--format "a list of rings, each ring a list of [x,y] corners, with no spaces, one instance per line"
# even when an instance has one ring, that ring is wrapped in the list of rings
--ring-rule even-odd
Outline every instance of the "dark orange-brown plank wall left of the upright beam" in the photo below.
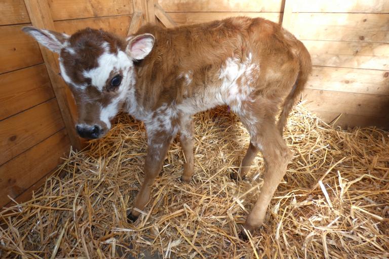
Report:
[[[0,206],[42,182],[70,143],[23,0],[0,2]],[[7,12],[5,12],[7,10]]]

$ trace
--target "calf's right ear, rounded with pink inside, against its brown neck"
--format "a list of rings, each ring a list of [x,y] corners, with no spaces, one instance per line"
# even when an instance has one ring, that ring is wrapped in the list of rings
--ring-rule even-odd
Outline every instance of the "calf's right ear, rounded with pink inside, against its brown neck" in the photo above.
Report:
[[[152,34],[145,33],[127,38],[126,53],[133,59],[144,59],[152,50],[155,38]]]

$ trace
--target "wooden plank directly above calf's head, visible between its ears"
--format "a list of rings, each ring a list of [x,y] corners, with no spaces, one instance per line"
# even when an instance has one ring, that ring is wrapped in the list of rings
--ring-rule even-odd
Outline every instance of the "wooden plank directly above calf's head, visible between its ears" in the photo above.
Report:
[[[84,29],[86,27],[94,29],[103,29],[120,36],[126,37],[128,29],[131,23],[131,16],[113,16],[113,17],[101,17],[90,18],[82,20],[68,20],[54,22],[57,31],[66,32],[72,34],[77,30]]]

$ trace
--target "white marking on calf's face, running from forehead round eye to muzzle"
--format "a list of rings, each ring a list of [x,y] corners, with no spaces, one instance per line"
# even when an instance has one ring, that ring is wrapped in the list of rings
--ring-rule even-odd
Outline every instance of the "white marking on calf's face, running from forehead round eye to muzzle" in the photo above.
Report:
[[[121,71],[122,82],[115,92],[119,93],[119,96],[111,100],[111,102],[101,107],[100,120],[103,121],[108,128],[110,128],[110,119],[119,112],[119,105],[126,99],[126,94],[134,82],[134,74],[131,67],[133,66],[132,60],[123,51],[118,50],[117,53],[110,53],[108,44],[105,42],[103,45],[105,52],[98,58],[98,66],[96,68],[86,70],[83,75],[86,78],[91,79],[91,84],[98,91],[102,92],[107,80],[110,79],[110,75],[115,75]],[[113,73],[111,73],[113,71]]]

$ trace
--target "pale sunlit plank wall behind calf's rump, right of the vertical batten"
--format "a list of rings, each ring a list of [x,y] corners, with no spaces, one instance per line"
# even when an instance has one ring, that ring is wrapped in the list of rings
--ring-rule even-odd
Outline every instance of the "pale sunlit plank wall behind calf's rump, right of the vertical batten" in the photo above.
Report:
[[[286,1],[284,26],[313,59],[306,99],[326,121],[389,128],[389,1]]]

